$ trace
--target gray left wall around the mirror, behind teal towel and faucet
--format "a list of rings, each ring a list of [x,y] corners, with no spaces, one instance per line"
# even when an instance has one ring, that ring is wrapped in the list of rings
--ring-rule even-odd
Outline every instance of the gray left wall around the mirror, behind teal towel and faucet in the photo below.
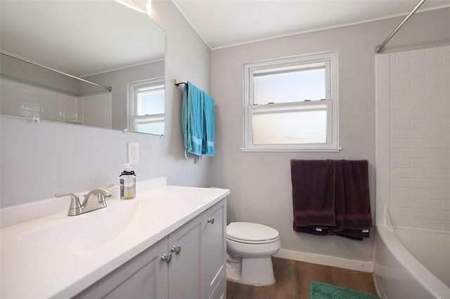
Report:
[[[208,91],[210,49],[171,1],[153,1],[153,19],[167,34],[165,136],[1,117],[1,207],[117,184],[127,142],[140,145],[138,181],[165,175],[171,185],[210,186],[212,159],[184,159],[182,87],[173,84],[188,79]]]

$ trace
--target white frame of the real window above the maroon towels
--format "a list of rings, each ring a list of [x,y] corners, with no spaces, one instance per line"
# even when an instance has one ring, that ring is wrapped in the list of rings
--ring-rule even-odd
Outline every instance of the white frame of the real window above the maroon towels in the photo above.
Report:
[[[314,65],[325,62],[326,66],[326,100],[307,102],[275,103],[266,105],[253,104],[253,76],[264,72],[297,69],[302,65]],[[244,115],[243,115],[243,152],[339,152],[339,93],[338,93],[338,51],[327,51],[299,55],[275,60],[264,60],[244,65]],[[253,144],[252,116],[257,109],[286,107],[293,109],[310,109],[313,105],[326,105],[327,135],[326,143],[309,144]]]

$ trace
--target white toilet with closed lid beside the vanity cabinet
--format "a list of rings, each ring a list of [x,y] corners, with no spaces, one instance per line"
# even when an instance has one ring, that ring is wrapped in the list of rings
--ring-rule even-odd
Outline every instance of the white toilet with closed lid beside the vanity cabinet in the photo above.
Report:
[[[226,227],[226,279],[252,286],[275,283],[271,255],[281,248],[278,231],[251,222]]]

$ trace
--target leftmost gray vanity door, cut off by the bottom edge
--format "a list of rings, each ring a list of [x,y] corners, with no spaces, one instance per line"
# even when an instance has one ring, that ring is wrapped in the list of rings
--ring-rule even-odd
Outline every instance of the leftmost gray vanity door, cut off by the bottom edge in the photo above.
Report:
[[[75,298],[167,298],[167,238],[146,249]]]

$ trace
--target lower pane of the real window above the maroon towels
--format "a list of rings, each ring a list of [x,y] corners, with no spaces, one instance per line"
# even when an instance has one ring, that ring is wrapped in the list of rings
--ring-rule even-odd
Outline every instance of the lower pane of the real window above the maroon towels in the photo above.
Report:
[[[253,144],[326,143],[326,106],[254,109]]]

